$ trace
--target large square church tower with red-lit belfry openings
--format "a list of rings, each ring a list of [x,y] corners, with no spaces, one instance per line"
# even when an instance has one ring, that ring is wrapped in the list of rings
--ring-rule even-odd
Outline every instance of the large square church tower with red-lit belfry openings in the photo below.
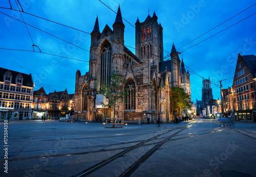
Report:
[[[150,66],[158,65],[163,61],[163,28],[158,24],[157,19],[154,12],[152,17],[148,14],[143,22],[137,18],[135,23],[135,55],[139,59],[148,56]]]

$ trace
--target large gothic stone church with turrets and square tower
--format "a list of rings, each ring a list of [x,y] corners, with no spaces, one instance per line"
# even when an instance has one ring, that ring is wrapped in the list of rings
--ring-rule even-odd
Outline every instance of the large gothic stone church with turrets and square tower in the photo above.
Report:
[[[113,19],[114,21],[114,19]],[[173,86],[181,87],[181,61],[173,44],[170,59],[164,61],[163,28],[154,12],[135,23],[135,54],[124,43],[124,24],[120,6],[112,28],[106,24],[99,30],[98,17],[91,33],[90,69],[81,75],[76,72],[75,111],[76,119],[105,121],[113,112],[103,107],[106,98],[99,93],[110,82],[113,72],[118,70],[126,81],[127,101],[115,110],[116,118],[145,123],[170,122],[174,114],[169,103]],[[170,49],[170,47],[167,47]],[[189,74],[186,73],[186,80]],[[185,81],[183,79],[183,81]],[[190,90],[187,90],[190,92]]]

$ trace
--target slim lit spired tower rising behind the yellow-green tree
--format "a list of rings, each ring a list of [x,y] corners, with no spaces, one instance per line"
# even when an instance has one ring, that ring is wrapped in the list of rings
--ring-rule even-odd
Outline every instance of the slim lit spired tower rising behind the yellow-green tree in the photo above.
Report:
[[[181,88],[183,88],[185,93],[187,93],[190,96],[190,101],[191,101],[189,72],[188,71],[186,72],[185,65],[183,62],[183,56],[181,59]]]

